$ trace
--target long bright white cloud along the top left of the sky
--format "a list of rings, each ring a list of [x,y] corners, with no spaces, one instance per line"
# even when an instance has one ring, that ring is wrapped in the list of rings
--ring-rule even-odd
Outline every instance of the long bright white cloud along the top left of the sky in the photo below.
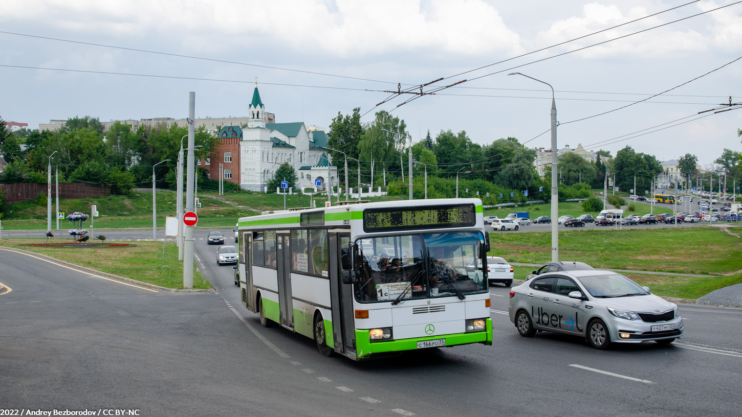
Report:
[[[156,34],[174,42],[187,39],[202,50],[280,44],[340,57],[420,49],[455,55],[521,50],[519,36],[482,0],[335,0],[330,8],[325,3],[26,0],[0,3],[0,21],[135,39]]]

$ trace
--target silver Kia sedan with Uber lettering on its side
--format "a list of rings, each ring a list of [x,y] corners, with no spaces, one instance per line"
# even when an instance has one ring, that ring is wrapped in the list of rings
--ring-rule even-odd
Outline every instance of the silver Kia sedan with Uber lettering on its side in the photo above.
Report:
[[[534,276],[510,291],[508,313],[521,336],[548,330],[585,337],[596,349],[615,342],[668,344],[683,337],[676,304],[612,271]]]

